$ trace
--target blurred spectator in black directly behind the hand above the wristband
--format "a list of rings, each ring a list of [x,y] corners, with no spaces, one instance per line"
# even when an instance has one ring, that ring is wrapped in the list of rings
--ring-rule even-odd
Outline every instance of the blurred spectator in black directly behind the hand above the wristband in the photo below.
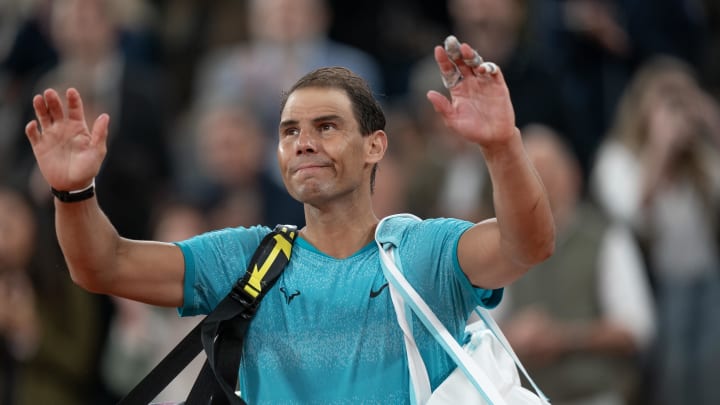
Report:
[[[126,235],[149,237],[153,204],[170,176],[162,80],[133,63],[120,48],[120,16],[129,4],[117,0],[57,0],[51,8],[51,38],[59,62],[37,88],[83,89],[86,111],[113,111],[110,145],[98,175],[98,199]],[[37,91],[37,90],[35,90]],[[27,142],[26,163],[32,162]],[[41,195],[46,185],[38,186]]]

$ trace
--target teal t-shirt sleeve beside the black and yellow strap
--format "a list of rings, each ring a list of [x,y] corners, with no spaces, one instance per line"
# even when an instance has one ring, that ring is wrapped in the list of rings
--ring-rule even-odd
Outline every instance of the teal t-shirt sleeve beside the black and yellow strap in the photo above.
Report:
[[[226,228],[176,242],[185,260],[180,316],[210,313],[245,274],[248,262],[270,229]]]

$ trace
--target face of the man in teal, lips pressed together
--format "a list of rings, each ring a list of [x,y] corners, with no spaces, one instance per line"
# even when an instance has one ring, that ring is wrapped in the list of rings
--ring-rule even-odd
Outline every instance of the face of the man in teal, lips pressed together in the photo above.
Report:
[[[278,161],[290,195],[317,206],[369,193],[372,136],[362,136],[359,128],[343,91],[294,91],[280,117],[278,140]]]

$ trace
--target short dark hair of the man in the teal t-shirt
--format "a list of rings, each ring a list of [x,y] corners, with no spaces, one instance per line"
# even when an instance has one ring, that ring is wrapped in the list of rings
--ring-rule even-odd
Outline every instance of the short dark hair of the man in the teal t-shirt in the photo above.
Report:
[[[283,93],[280,111],[285,109],[288,97],[295,90],[308,87],[324,87],[344,91],[350,99],[353,114],[360,125],[360,133],[363,136],[370,135],[375,131],[385,130],[385,113],[380,107],[380,103],[373,96],[367,81],[350,69],[339,66],[318,68],[301,77],[290,90]],[[370,174],[371,192],[375,188],[376,172],[377,164],[373,166]]]

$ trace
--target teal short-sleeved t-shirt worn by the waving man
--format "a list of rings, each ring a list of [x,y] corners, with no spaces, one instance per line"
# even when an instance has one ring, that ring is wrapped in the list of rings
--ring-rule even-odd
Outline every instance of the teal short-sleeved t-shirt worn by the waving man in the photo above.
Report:
[[[502,290],[473,288],[457,261],[472,224],[431,219],[397,227],[408,281],[460,341],[469,313]],[[185,255],[181,315],[210,312],[245,272],[266,227],[232,228],[179,242]],[[415,340],[435,388],[455,368],[425,327]],[[336,259],[298,237],[292,257],[248,328],[240,389],[250,404],[409,403],[402,331],[374,242]]]

